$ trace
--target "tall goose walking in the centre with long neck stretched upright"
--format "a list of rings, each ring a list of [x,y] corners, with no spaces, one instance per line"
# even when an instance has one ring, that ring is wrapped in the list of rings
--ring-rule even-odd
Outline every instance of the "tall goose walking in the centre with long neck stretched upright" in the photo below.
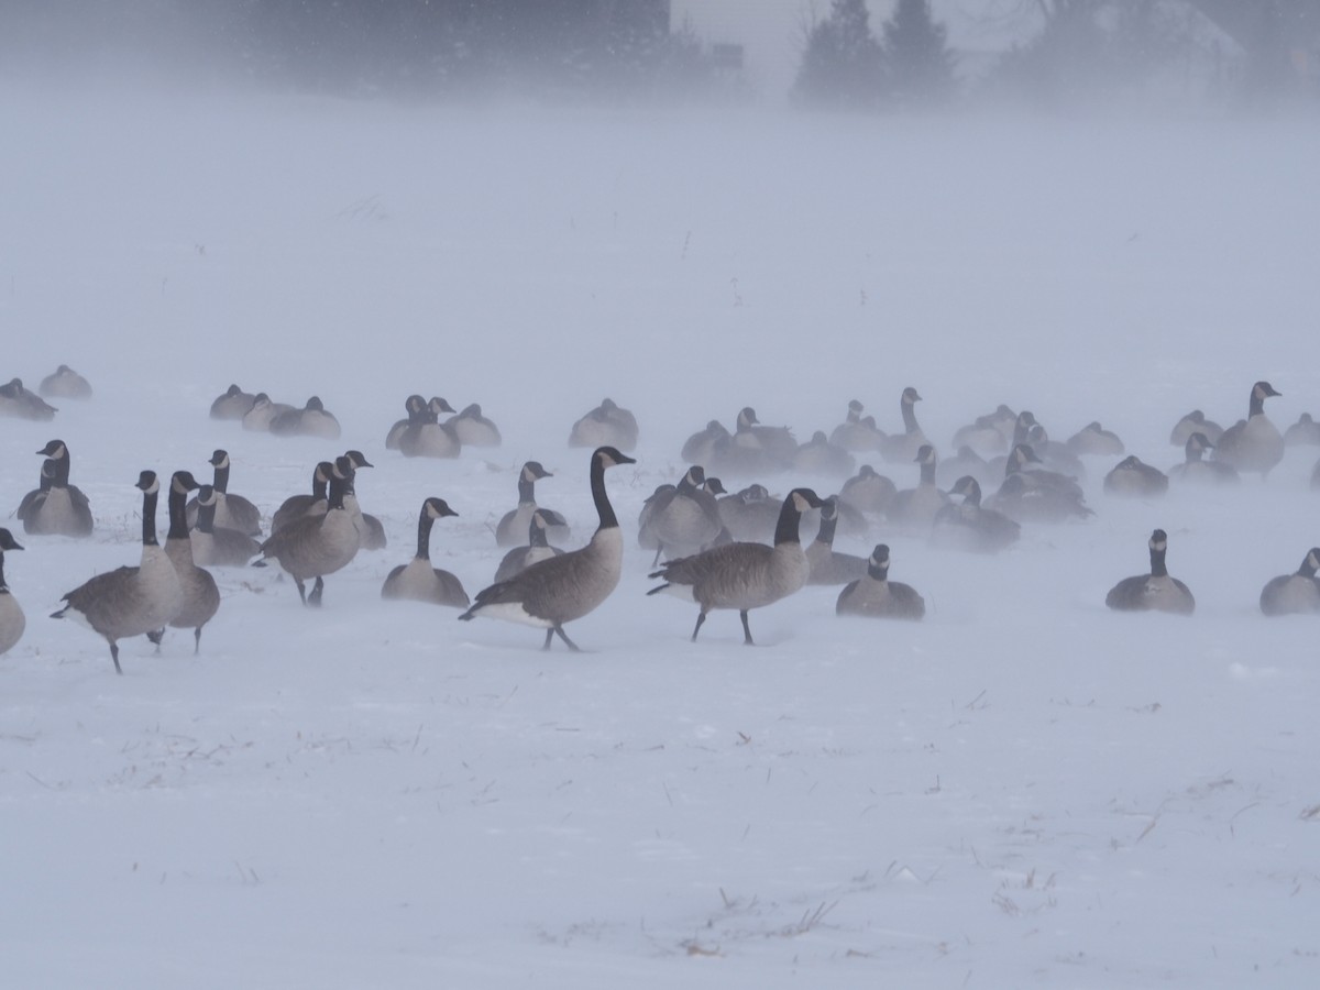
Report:
[[[478,591],[473,607],[458,618],[486,615],[535,626],[545,630],[543,649],[549,649],[550,639],[558,634],[568,648],[577,652],[577,644],[564,632],[564,623],[581,619],[609,598],[623,570],[623,535],[605,490],[605,470],[634,463],[636,461],[612,446],[591,451],[591,500],[601,524],[587,545],[543,560],[508,581]]]

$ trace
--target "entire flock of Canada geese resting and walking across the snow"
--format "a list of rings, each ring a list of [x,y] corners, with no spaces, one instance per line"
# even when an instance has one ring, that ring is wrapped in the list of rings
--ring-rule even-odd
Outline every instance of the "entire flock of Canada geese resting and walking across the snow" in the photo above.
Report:
[[[42,381],[50,397],[84,399],[91,387],[66,366]],[[826,436],[816,433],[799,444],[791,430],[760,424],[743,408],[733,430],[718,421],[694,433],[682,447],[689,465],[675,484],[657,487],[638,520],[638,543],[655,550],[648,594],[671,594],[697,606],[696,640],[708,615],[737,611],[743,639],[752,644],[748,614],[799,591],[808,583],[842,586],[836,611],[894,619],[921,619],[923,597],[891,581],[890,548],[876,544],[869,557],[833,549],[836,532],[862,535],[875,520],[895,532],[925,536],[933,545],[998,553],[1011,546],[1023,525],[1086,519],[1093,515],[1078,483],[1082,457],[1119,457],[1105,475],[1104,488],[1115,496],[1158,498],[1173,480],[1179,484],[1233,484],[1243,473],[1267,475],[1294,445],[1320,445],[1320,424],[1303,416],[1286,433],[1269,420],[1265,401],[1272,385],[1253,385],[1246,418],[1221,428],[1200,411],[1183,417],[1171,442],[1184,461],[1171,471],[1123,455],[1122,441],[1092,422],[1065,442],[1049,438],[1031,412],[999,407],[957,432],[956,455],[940,461],[915,412],[921,396],[906,388],[900,396],[902,432],[884,433],[863,416],[859,401],[849,404],[845,420]],[[40,403],[41,405],[37,405]],[[36,414],[42,407],[49,416]],[[21,408],[24,412],[16,412]],[[409,396],[405,418],[385,437],[385,447],[404,457],[457,457],[463,446],[498,446],[499,428],[470,405],[455,412],[440,397]],[[0,388],[0,414],[50,418],[54,407],[22,388],[18,379]],[[447,420],[441,416],[451,413]],[[339,424],[319,399],[301,408],[282,407],[265,393],[246,393],[231,385],[211,405],[218,420],[240,420],[244,429],[290,436],[339,437]],[[260,424],[260,425],[259,425]],[[610,399],[591,409],[569,433],[569,445],[590,447],[589,487],[597,528],[585,545],[564,549],[572,540],[565,517],[536,503],[536,482],[550,477],[537,461],[517,474],[517,504],[495,529],[496,544],[510,548],[494,582],[469,598],[454,574],[434,568],[430,537],[437,520],[458,513],[445,499],[426,498],[417,519],[413,558],[393,568],[381,586],[384,599],[413,599],[461,610],[459,619],[478,616],[521,623],[545,631],[544,648],[558,636],[577,645],[565,626],[597,609],[618,586],[624,537],[606,487],[611,467],[636,463],[626,451],[638,444],[638,422]],[[15,515],[28,535],[86,537],[94,520],[87,496],[71,483],[71,455],[61,440],[41,450],[38,487],[24,496]],[[886,463],[916,465],[919,480],[898,488],[874,465],[857,467],[858,457]],[[286,499],[263,533],[263,515],[247,499],[228,491],[230,457],[223,449],[209,461],[210,484],[190,471],[174,471],[166,484],[169,528],[165,545],[156,533],[162,479],[143,471],[141,554],[135,566],[96,574],[63,595],[53,618],[79,622],[110,647],[115,669],[119,642],[145,635],[157,647],[166,627],[191,630],[194,652],[203,627],[215,616],[220,595],[207,568],[269,566],[288,573],[306,606],[319,606],[325,578],[343,569],[360,549],[383,548],[384,528],[358,504],[355,479],[372,465],[358,450],[323,461],[312,474],[312,491]],[[777,499],[754,478],[792,473],[841,479],[837,495],[822,498],[809,487],[793,487]],[[952,477],[950,477],[952,475]],[[730,492],[726,479],[751,480]],[[1320,487],[1320,463],[1312,478]],[[944,487],[941,487],[944,486]],[[982,499],[983,488],[991,494]],[[191,499],[190,499],[191,496]],[[804,516],[816,537],[801,541]],[[264,537],[264,539],[260,539]],[[25,618],[4,582],[4,554],[24,549],[9,529],[0,528],[0,652],[24,634]],[[1191,614],[1195,598],[1168,573],[1168,536],[1150,537],[1148,573],[1119,581],[1106,597],[1115,610],[1156,610]],[[1272,578],[1261,591],[1266,615],[1320,612],[1320,548],[1309,549],[1295,573]],[[310,590],[308,587],[310,582]]]

